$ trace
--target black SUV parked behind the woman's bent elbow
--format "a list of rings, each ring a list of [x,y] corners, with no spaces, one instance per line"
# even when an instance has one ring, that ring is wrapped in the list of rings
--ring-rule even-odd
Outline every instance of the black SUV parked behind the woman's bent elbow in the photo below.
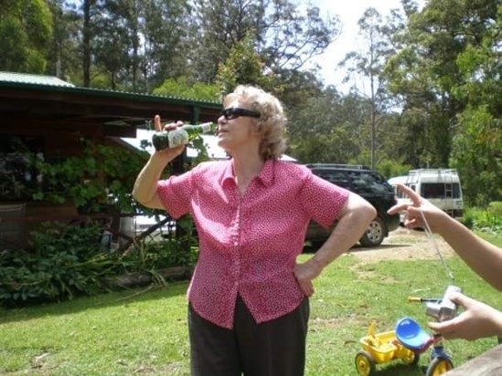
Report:
[[[400,225],[400,215],[389,215],[387,211],[396,204],[396,197],[392,186],[387,183],[379,172],[369,170],[362,165],[313,163],[306,167],[315,175],[358,193],[377,209],[377,217],[371,221],[366,233],[359,239],[363,246],[378,246],[390,231]],[[331,234],[332,228],[325,229],[311,221],[308,225],[305,241],[312,246],[322,245]]]

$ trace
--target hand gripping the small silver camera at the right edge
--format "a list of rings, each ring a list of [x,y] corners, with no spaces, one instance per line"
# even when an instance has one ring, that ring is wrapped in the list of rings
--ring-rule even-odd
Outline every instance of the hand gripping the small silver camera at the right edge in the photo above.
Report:
[[[480,339],[494,336],[502,322],[502,312],[461,293],[449,297],[465,311],[454,319],[430,322],[429,328],[443,335],[445,339]]]

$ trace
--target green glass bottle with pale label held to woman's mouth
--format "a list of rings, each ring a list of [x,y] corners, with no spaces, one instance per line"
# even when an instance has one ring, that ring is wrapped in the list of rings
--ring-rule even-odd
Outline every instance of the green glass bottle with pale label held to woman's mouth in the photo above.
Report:
[[[171,131],[156,131],[152,136],[152,143],[155,151],[176,148],[194,140],[199,134],[215,131],[216,127],[214,122],[205,122],[198,125],[185,124]]]

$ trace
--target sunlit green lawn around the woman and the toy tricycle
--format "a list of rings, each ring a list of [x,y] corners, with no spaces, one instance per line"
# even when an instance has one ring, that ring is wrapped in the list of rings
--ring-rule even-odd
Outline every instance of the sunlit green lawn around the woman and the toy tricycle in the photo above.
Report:
[[[488,240],[502,244],[500,237]],[[467,295],[502,308],[500,293],[458,257],[447,262],[454,283]],[[371,321],[377,321],[379,331],[393,329],[404,316],[425,326],[424,306],[406,298],[441,297],[450,283],[437,260],[365,264],[356,256],[341,256],[315,281],[306,375],[357,374],[358,341]],[[188,375],[186,290],[183,282],[0,310],[0,374]],[[445,341],[456,365],[496,344],[495,338]],[[419,368],[399,360],[381,364],[379,375],[421,375],[429,354],[422,354]]]

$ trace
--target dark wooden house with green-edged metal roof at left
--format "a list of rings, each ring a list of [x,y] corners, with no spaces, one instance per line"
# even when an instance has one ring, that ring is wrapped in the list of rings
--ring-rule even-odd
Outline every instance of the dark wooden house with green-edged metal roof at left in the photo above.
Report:
[[[0,72],[0,247],[23,245],[41,221],[69,222],[80,215],[71,202],[34,201],[23,192],[39,177],[23,170],[16,140],[44,161],[57,161],[79,155],[80,137],[109,144],[135,138],[155,114],[201,122],[217,119],[220,110],[219,102],[81,88],[55,77]]]

